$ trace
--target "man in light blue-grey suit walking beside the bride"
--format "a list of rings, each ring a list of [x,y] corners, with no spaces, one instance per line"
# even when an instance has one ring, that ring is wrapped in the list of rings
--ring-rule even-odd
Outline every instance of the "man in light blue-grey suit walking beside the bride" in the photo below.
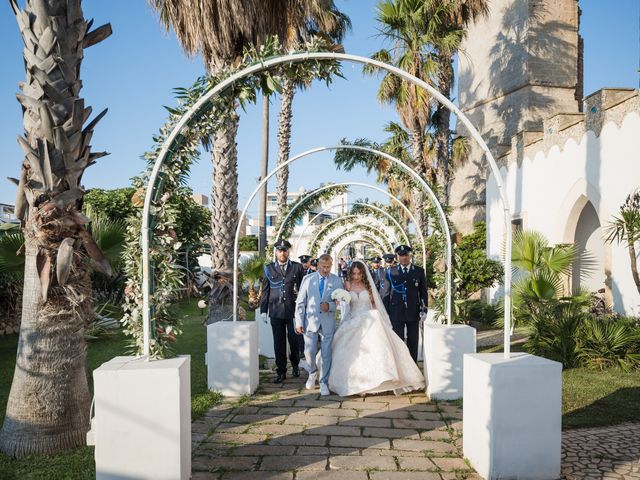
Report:
[[[318,336],[322,355],[322,377],[320,395],[329,395],[329,371],[331,370],[331,341],[336,329],[336,304],[331,300],[331,292],[342,288],[342,280],[331,273],[331,255],[320,255],[318,271],[302,280],[296,300],[296,333],[304,334],[304,355],[309,365],[307,389],[312,389],[318,379]]]

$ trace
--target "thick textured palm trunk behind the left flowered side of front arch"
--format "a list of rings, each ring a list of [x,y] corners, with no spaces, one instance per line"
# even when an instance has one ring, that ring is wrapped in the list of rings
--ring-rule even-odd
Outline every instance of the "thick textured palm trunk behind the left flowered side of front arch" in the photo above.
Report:
[[[211,267],[233,268],[233,239],[238,225],[238,149],[240,117],[230,105],[224,127],[213,140],[213,190],[211,192]]]

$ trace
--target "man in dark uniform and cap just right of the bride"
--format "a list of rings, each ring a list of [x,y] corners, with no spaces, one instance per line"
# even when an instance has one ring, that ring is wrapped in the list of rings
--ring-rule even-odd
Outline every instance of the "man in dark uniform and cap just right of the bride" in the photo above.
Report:
[[[406,342],[413,361],[418,361],[420,312],[427,308],[427,279],[424,269],[411,263],[411,247],[396,247],[398,265],[387,270],[388,291],[383,297],[393,331]]]

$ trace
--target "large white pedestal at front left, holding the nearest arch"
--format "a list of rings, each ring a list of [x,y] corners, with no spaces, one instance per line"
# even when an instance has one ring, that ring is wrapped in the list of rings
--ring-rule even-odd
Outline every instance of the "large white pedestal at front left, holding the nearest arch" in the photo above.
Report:
[[[96,478],[191,476],[190,358],[115,357],[93,372]]]

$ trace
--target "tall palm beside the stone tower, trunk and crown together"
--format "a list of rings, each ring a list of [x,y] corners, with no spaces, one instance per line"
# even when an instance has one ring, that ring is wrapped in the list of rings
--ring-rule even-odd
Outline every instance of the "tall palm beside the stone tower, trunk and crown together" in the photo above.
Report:
[[[440,93],[451,98],[454,71],[453,56],[460,49],[460,43],[466,34],[466,28],[478,18],[489,14],[488,0],[449,0],[451,8],[442,15],[442,21],[435,22],[438,29],[435,39],[436,63],[438,65],[437,86]],[[429,4],[432,5],[429,5]],[[431,10],[428,15],[440,16],[437,9],[442,2],[425,2],[425,7]],[[436,11],[434,11],[436,10]],[[439,26],[439,27],[438,27]],[[452,150],[451,145],[451,112],[447,107],[438,103],[434,122],[436,127],[436,157],[438,183],[444,187],[444,201],[449,204],[449,187],[451,182]]]

